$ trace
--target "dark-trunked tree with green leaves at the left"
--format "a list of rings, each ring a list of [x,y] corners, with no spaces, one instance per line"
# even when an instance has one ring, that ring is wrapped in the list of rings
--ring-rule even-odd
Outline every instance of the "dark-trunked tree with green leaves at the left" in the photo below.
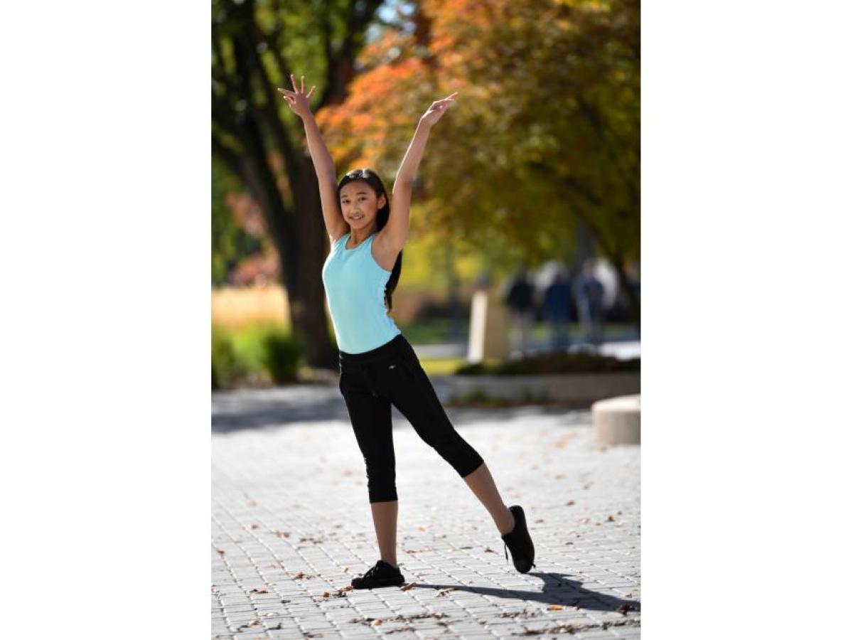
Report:
[[[293,335],[313,366],[334,367],[337,358],[320,279],[328,236],[301,123],[276,86],[305,74],[319,90],[315,112],[345,100],[381,3],[212,2],[212,150],[264,212]]]

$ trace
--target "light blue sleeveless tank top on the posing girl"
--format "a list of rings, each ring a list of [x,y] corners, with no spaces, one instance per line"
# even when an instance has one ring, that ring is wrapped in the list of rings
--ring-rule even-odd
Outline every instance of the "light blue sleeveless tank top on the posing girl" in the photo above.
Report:
[[[385,285],[391,271],[383,269],[370,246],[371,234],[353,249],[345,247],[350,233],[338,238],[322,265],[328,309],[332,314],[338,348],[345,353],[363,353],[382,346],[401,333],[386,314]]]

